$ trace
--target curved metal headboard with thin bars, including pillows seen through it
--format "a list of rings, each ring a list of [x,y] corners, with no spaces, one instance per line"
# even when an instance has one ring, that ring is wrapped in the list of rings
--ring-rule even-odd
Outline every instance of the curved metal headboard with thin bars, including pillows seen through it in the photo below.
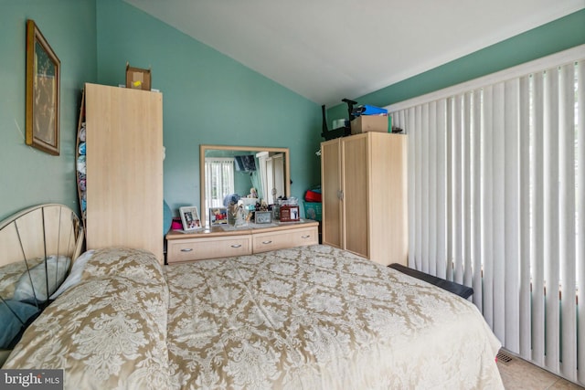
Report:
[[[50,294],[69,272],[63,267],[80,256],[83,238],[79,216],[59,204],[27,207],[0,222],[0,312],[5,323],[0,364],[50,303]]]

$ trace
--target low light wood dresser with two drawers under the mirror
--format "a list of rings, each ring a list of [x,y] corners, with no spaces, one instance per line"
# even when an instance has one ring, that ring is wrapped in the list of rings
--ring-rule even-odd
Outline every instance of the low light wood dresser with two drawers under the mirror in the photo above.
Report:
[[[229,258],[269,250],[293,248],[319,243],[319,223],[306,220],[270,224],[261,227],[211,227],[183,233],[171,231],[166,235],[168,264],[207,258]]]

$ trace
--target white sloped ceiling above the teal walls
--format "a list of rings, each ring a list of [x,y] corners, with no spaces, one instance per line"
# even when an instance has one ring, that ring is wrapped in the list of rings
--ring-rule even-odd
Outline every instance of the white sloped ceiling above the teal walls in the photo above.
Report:
[[[326,105],[585,7],[585,0],[124,1]]]

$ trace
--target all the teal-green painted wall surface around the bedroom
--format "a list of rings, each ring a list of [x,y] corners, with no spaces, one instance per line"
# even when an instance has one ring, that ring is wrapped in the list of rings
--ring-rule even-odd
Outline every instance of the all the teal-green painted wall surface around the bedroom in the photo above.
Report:
[[[165,198],[199,205],[198,146],[289,147],[293,195],[319,184],[321,109],[122,0],[0,0],[0,218],[26,206],[78,208],[74,146],[84,82],[124,83],[126,62],[151,68],[164,96]],[[61,60],[61,154],[25,145],[25,24]],[[410,99],[585,43],[585,10],[364,97],[378,106]],[[344,97],[339,97],[340,100]],[[345,105],[328,111],[346,116]],[[123,169],[123,167],[122,167]]]

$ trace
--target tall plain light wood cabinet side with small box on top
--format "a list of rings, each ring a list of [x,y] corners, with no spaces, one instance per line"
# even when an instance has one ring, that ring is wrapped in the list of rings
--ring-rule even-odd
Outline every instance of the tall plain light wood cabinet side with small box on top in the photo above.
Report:
[[[162,264],[163,95],[86,84],[83,100],[87,248],[144,248]]]

